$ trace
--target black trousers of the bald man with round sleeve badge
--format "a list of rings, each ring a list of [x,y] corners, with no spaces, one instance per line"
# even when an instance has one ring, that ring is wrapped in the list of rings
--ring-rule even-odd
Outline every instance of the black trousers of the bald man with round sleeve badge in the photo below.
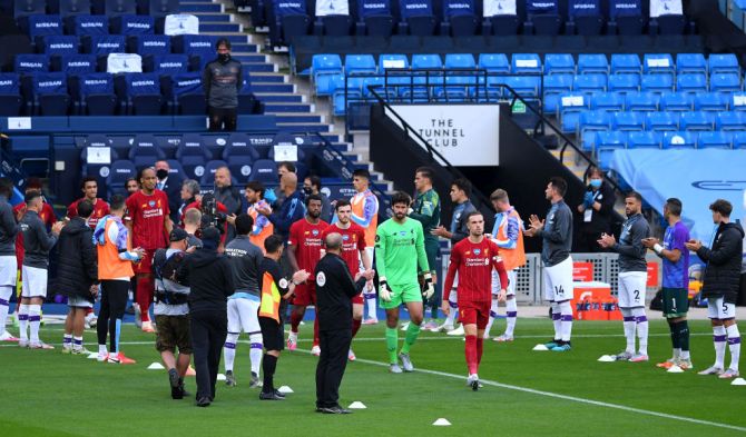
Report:
[[[316,366],[316,407],[334,407],[340,400],[340,384],[347,367],[352,329],[318,332],[321,357]]]

